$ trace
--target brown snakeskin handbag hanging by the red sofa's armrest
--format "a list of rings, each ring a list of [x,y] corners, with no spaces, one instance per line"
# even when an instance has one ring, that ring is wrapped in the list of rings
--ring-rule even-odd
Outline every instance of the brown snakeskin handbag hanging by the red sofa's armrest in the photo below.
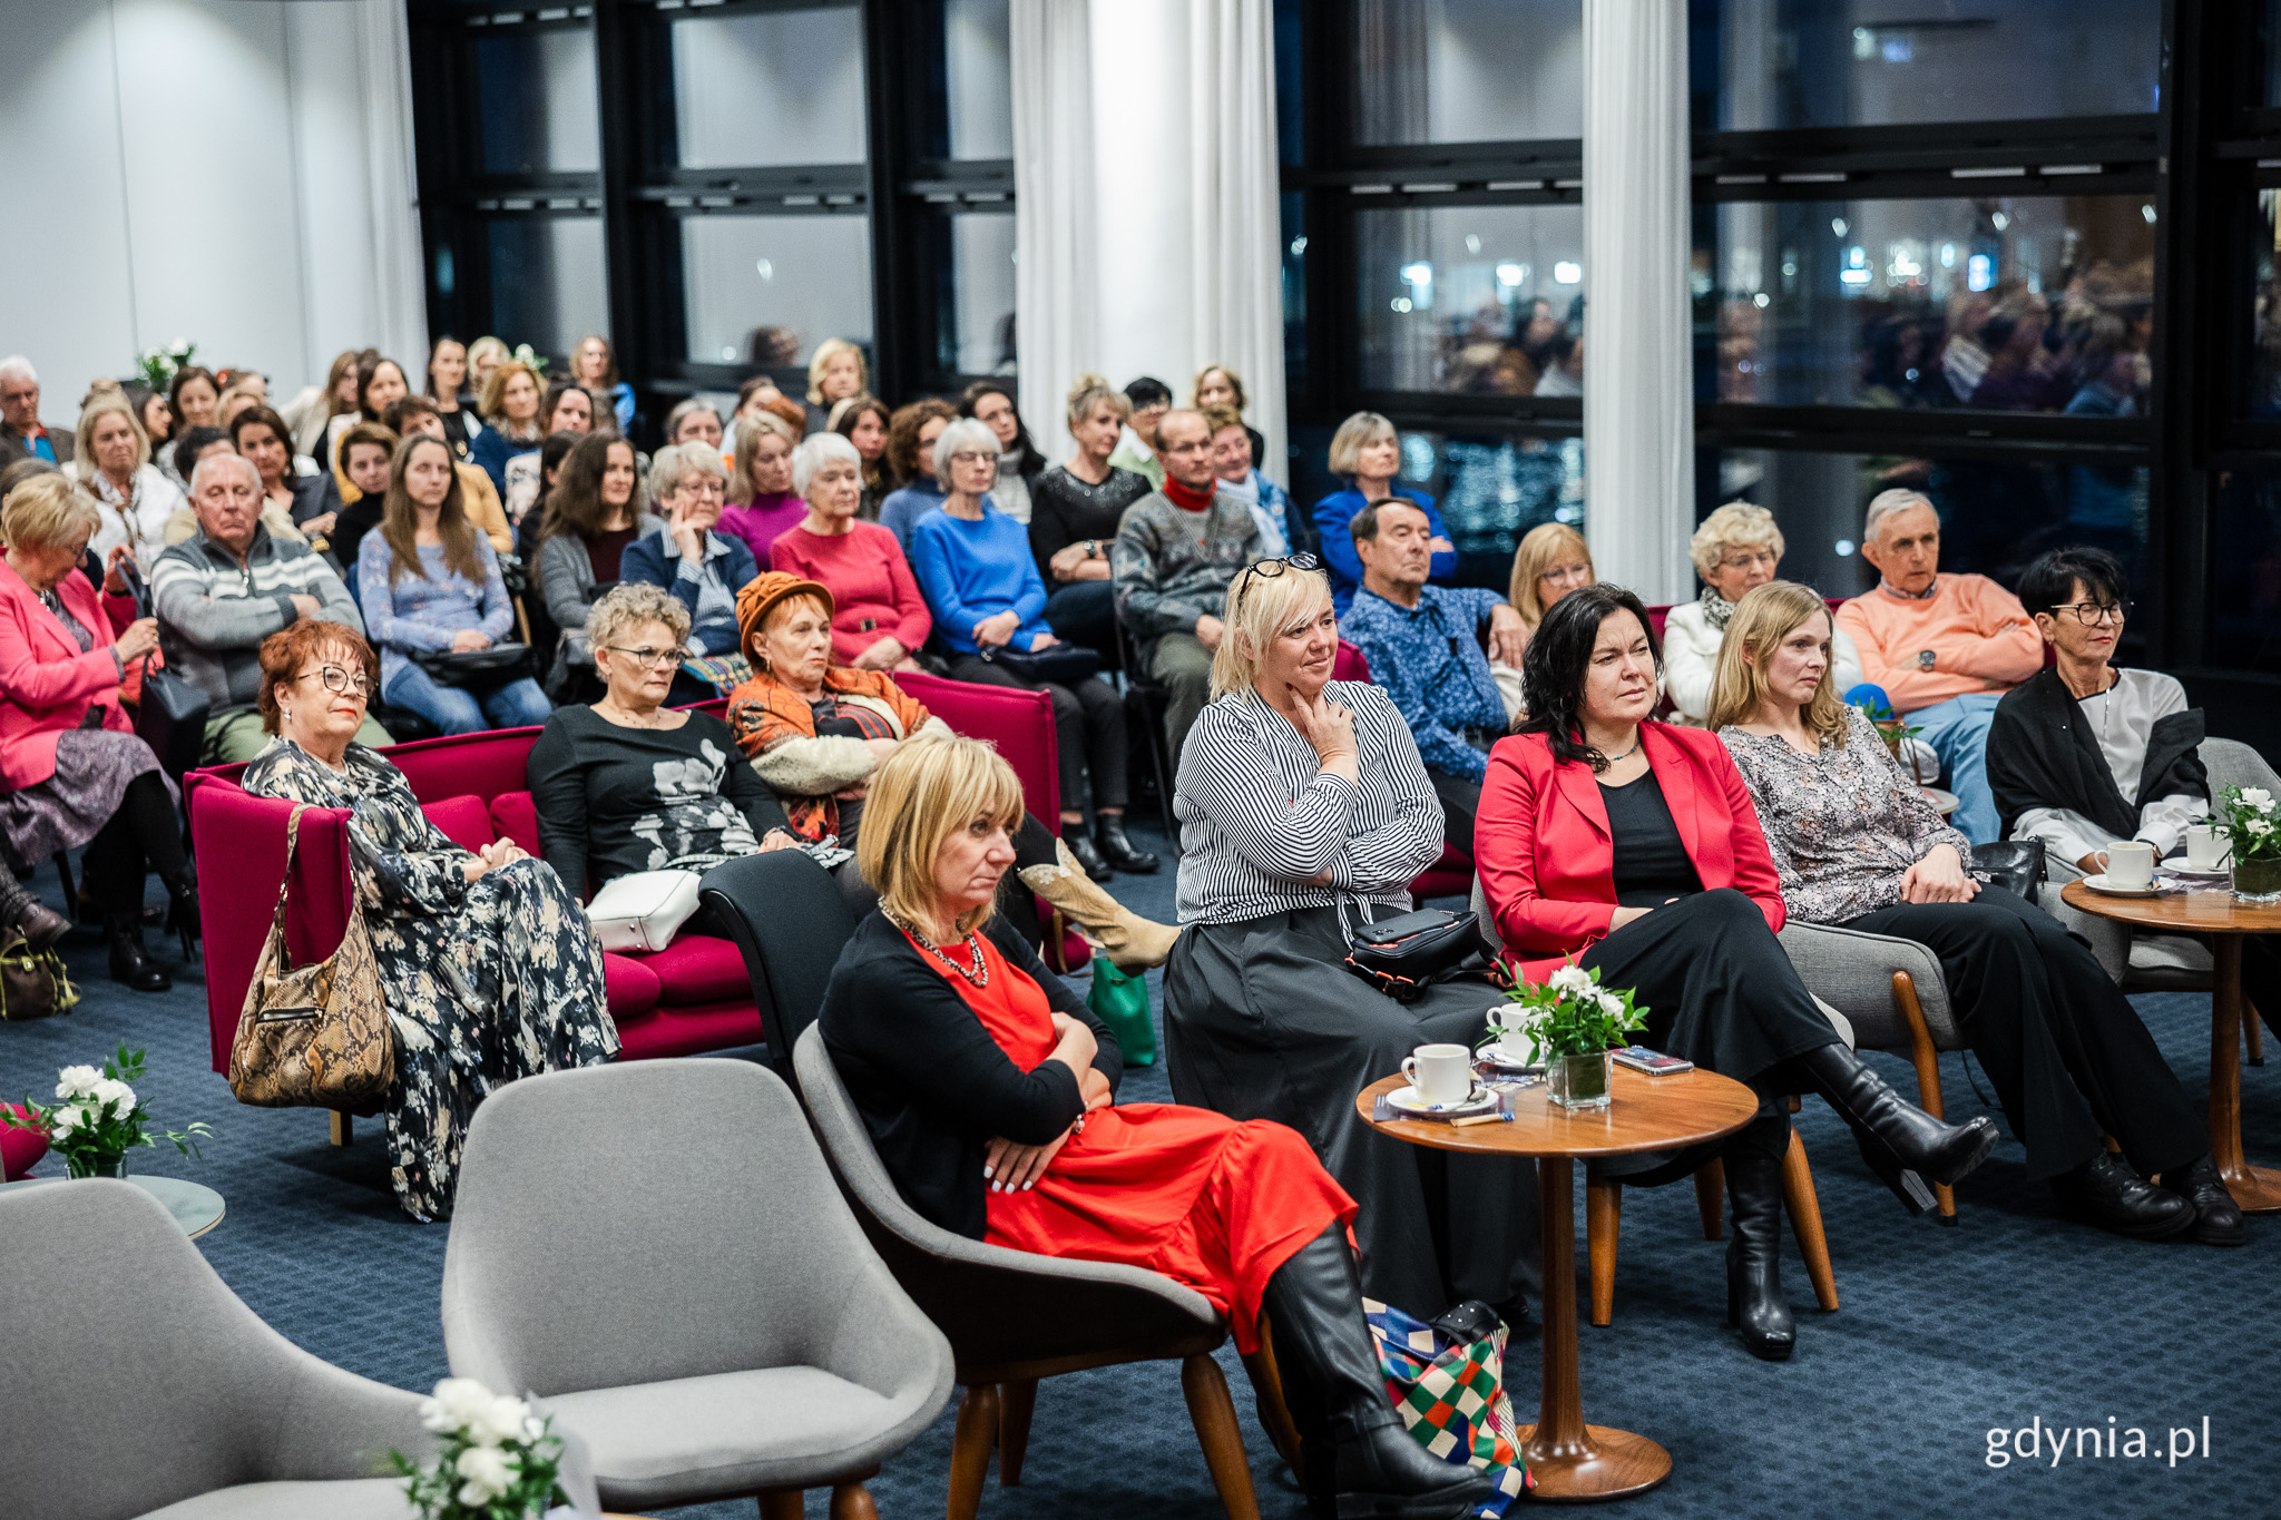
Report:
[[[285,882],[230,1041],[230,1092],[255,1108],[363,1108],[381,1101],[397,1073],[363,902],[351,893],[349,930],[326,959],[294,966],[285,948],[285,900],[306,811],[306,802],[297,804],[285,825]]]

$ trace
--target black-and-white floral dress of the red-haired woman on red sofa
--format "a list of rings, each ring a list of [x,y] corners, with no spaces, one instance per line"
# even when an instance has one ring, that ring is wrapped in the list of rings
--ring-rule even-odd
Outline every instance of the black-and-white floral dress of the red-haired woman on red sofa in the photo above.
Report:
[[[388,1153],[413,1219],[452,1215],[474,1105],[516,1078],[598,1067],[618,1053],[602,946],[554,868],[525,859],[468,882],[470,855],[365,745],[333,770],[292,741],[246,766],[244,788],[351,809],[356,893],[397,1030]]]

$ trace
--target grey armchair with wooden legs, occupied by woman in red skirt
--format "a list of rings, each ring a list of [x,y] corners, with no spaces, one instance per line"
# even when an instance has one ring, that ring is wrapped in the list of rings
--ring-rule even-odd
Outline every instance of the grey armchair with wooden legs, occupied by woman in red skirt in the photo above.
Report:
[[[871,1135],[823,1048],[823,1032],[810,1028],[801,1035],[792,1060],[817,1135],[864,1233],[919,1308],[949,1333],[958,1356],[958,1381],[967,1395],[958,1404],[951,1447],[949,1520],[974,1520],[992,1445],[999,1449],[999,1481],[1008,1488],[1022,1481],[1038,1379],[1136,1360],[1179,1360],[1179,1386],[1220,1504],[1229,1520],[1257,1520],[1236,1406],[1211,1358],[1227,1340],[1227,1324],[1202,1294],[1140,1267],[1029,1256],[928,1224],[903,1203],[871,1149]],[[1298,1470],[1298,1438],[1284,1413],[1273,1356],[1264,1351],[1248,1367],[1261,1422]]]

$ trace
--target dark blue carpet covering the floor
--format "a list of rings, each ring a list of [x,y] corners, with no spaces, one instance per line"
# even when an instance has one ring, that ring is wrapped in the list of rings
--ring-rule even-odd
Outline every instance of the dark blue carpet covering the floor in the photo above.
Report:
[[[52,896],[52,877],[46,886]],[[1159,875],[1118,877],[1113,889],[1170,918],[1170,855]],[[379,1121],[354,1146],[333,1149],[317,1112],[237,1108],[208,1069],[205,987],[171,946],[162,964],[178,980],[162,996],[105,980],[87,937],[68,941],[66,957],[87,1000],[71,1019],[0,1025],[0,1094],[46,1096],[57,1067],[100,1060],[121,1039],[148,1048],[141,1092],[151,1110],[171,1123],[208,1119],[221,1135],[203,1162],[144,1151],[132,1169],[198,1178],[228,1196],[228,1217],[198,1242],[224,1281],[278,1331],[351,1372],[415,1390],[443,1376],[445,1228],[397,1212]],[[2137,1007],[2187,1092],[2203,1092],[2210,1000],[2142,996]],[[1873,1060],[1902,1092],[1914,1089],[1905,1062]],[[1959,1057],[1941,1062],[1941,1080],[1950,1117],[1987,1112]],[[1127,1101],[1168,1096],[1161,1069],[1129,1073]],[[2242,1108],[2249,1155],[2281,1162],[2281,1051],[2245,1069]],[[1937,1228],[1900,1212],[1823,1103],[1809,1101],[1797,1126],[1843,1308],[1813,1310],[1793,1247],[1784,1283],[1800,1313],[1800,1349],[1786,1365],[1752,1360],[1722,1326],[1722,1247],[1702,1240],[1693,1190],[1626,1199],[1615,1324],[1581,1331],[1583,1406],[1594,1424],[1661,1440],[1677,1463],[1670,1484],[1633,1499],[1626,1515],[2281,1513],[2281,1395],[2267,1345],[2281,1326],[2281,1219],[2251,1219],[2251,1244],[2240,1251],[2112,1240],[2055,1219],[2041,1190],[2023,1183],[2021,1149],[2007,1139],[1959,1190],[1962,1226]],[[39,1167],[59,1169],[55,1160]],[[1578,1237],[1581,1228],[1578,1219]],[[1535,1411],[1535,1345],[1517,1340],[1508,1370],[1524,1420]],[[1257,1431],[1236,1358],[1223,1360],[1261,1511],[1305,1513]],[[871,1484],[890,1520],[942,1511],[953,1408]],[[1987,1463],[1991,1429],[2105,1431],[2110,1417],[2117,1429],[2144,1429],[2156,1454],[2172,1427],[2199,1436],[2208,1417],[2213,1452],[2172,1465],[2162,1456],[2078,1458],[2069,1447],[2053,1465],[2044,1445],[2039,1458]],[[671,1513],[750,1520],[753,1509]],[[810,1495],[807,1513],[823,1513],[823,1495]],[[1074,1374],[1040,1390],[1024,1481],[992,1486],[983,1515],[1072,1513],[1218,1513],[1170,1363]]]

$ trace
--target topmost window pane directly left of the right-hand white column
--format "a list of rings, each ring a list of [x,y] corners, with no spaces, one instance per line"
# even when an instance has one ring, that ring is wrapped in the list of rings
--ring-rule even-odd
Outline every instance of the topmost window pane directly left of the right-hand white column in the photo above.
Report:
[[[1583,137],[1583,0],[1355,0],[1355,141]]]

